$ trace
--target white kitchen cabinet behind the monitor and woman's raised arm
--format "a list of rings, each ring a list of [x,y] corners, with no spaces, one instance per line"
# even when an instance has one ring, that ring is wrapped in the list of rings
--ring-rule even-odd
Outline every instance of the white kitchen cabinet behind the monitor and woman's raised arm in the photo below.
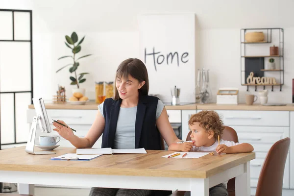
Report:
[[[76,130],[76,132],[74,132],[76,136],[84,137],[95,120],[97,110],[47,109],[47,114],[48,114],[49,122],[51,122],[51,119],[62,120],[65,123],[67,123],[70,127]],[[27,123],[31,124],[34,115],[35,115],[34,109],[27,110]],[[51,126],[51,129],[54,128],[52,123],[50,124],[50,126]],[[59,135],[59,134],[53,130],[51,133],[43,133],[41,132],[38,126],[37,132],[36,132],[36,144],[39,143],[40,135]],[[102,136],[98,139],[98,141],[95,143],[93,147],[101,147],[101,143],[102,143]],[[73,145],[69,141],[63,139],[62,137],[59,144],[62,147],[73,147]]]

